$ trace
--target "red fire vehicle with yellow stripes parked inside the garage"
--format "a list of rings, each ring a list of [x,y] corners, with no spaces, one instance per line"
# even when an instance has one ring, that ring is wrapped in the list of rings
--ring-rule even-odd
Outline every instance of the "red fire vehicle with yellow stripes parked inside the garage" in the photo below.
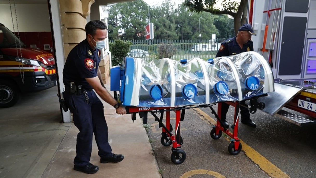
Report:
[[[0,108],[13,106],[21,93],[41,91],[56,85],[53,55],[27,48],[0,23]]]

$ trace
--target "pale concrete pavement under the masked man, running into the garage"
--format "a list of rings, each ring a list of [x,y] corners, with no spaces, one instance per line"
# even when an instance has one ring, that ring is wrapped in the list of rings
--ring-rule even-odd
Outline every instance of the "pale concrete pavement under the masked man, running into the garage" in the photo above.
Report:
[[[106,85],[106,88],[110,88]],[[119,163],[100,163],[95,141],[91,163],[99,171],[87,175],[73,170],[78,129],[60,120],[57,87],[32,93],[11,108],[0,109],[0,177],[153,177],[159,168],[141,118],[118,115],[103,102],[113,153]]]

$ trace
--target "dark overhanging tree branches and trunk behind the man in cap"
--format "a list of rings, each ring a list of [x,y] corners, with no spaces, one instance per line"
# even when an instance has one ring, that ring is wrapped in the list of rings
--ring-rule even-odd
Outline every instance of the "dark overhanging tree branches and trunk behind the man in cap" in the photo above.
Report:
[[[230,1],[222,0],[220,3],[222,8],[215,6],[216,0],[185,0],[184,5],[193,12],[210,12],[215,15],[228,14],[234,17],[234,31],[237,35],[241,23],[246,22],[246,8],[248,0]]]

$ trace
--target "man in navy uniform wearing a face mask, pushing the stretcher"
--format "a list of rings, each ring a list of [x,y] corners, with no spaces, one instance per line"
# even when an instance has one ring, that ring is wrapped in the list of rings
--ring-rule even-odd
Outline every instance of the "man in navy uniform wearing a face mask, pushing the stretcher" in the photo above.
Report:
[[[98,166],[90,163],[93,134],[101,163],[120,162],[124,159],[123,155],[112,153],[108,143],[103,104],[96,93],[114,106],[116,113],[126,114],[126,110],[102,83],[99,62],[100,50],[105,47],[107,37],[106,25],[99,20],[90,21],[85,30],[86,39],[76,45],[67,57],[63,71],[65,85],[63,96],[70,112],[73,113],[74,124],[79,130],[74,169],[93,174],[99,170]]]

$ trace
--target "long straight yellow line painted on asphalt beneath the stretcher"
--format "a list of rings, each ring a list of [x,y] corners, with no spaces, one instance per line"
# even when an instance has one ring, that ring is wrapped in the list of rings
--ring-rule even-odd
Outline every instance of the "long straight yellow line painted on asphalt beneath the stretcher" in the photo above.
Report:
[[[201,109],[194,108],[194,110],[197,111],[205,119],[210,121],[211,124],[213,124],[213,125],[216,124],[216,120],[211,118],[209,115],[207,115]],[[227,140],[229,141],[229,139],[227,139]],[[286,177],[289,177],[289,175],[285,174],[281,169],[276,167],[276,165],[272,164],[269,160],[267,160],[264,156],[259,154],[256,150],[252,149],[245,142],[240,140],[240,143],[242,144],[242,150],[245,151],[246,156],[249,159],[251,159],[252,162],[257,164],[259,166],[259,168],[261,170],[263,170],[265,173],[267,173],[270,177],[273,177],[273,178],[286,178]]]

